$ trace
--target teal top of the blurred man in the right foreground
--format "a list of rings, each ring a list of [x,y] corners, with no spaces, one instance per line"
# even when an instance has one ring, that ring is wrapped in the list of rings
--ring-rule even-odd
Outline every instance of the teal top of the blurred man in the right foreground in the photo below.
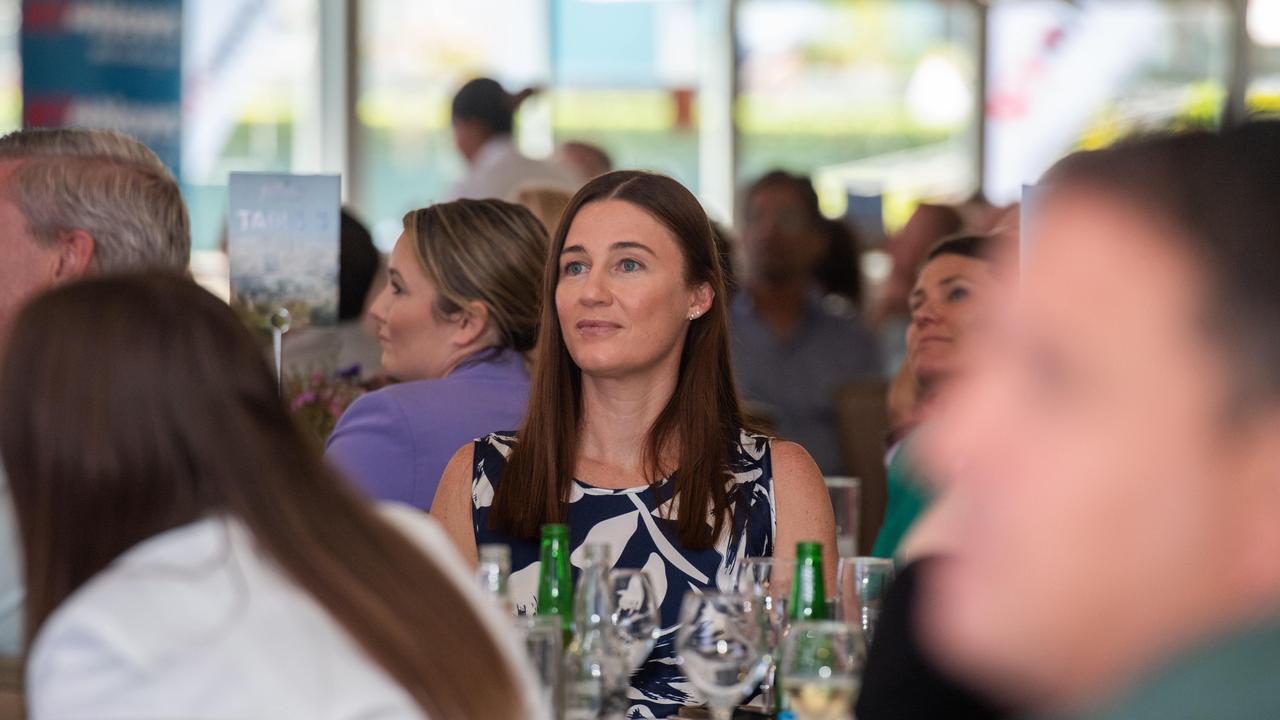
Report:
[[[1078,720],[1280,717],[1280,616],[1169,662],[1101,711]]]

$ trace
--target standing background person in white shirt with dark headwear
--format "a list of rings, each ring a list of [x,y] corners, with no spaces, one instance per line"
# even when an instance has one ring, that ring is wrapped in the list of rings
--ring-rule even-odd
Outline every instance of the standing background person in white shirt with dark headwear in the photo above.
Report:
[[[511,140],[516,110],[534,88],[509,94],[497,81],[475,78],[453,96],[453,142],[467,161],[467,174],[448,200],[516,200],[526,186],[573,192],[579,179],[567,168],[526,158]]]

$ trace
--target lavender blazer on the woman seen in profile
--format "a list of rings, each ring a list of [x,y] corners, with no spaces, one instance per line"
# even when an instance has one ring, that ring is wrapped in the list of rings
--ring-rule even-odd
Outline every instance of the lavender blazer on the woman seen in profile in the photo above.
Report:
[[[329,436],[325,457],[375,500],[430,510],[453,454],[477,437],[518,428],[527,402],[521,356],[484,351],[445,378],[356,400]]]

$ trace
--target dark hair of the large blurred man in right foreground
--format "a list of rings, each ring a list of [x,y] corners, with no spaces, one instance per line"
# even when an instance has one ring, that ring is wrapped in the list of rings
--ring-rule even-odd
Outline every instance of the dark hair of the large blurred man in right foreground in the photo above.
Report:
[[[1280,398],[1280,122],[1079,152],[1042,184],[1038,206],[1084,192],[1165,227],[1203,273],[1201,324],[1235,364],[1238,404]]]

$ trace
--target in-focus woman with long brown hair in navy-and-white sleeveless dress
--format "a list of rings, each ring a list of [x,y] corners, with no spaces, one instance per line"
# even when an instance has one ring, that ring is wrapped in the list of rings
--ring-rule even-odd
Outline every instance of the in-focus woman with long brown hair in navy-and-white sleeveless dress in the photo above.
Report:
[[[797,541],[831,552],[831,500],[804,448],[745,427],[710,223],[680,183],[616,172],[584,186],[543,288],[525,423],[458,451],[433,512],[468,559],[476,543],[511,544],[522,611],[544,523],[645,569],[664,633],[632,676],[628,714],[666,717],[701,700],[673,662],[685,591],[731,589],[744,557],[787,559]]]

